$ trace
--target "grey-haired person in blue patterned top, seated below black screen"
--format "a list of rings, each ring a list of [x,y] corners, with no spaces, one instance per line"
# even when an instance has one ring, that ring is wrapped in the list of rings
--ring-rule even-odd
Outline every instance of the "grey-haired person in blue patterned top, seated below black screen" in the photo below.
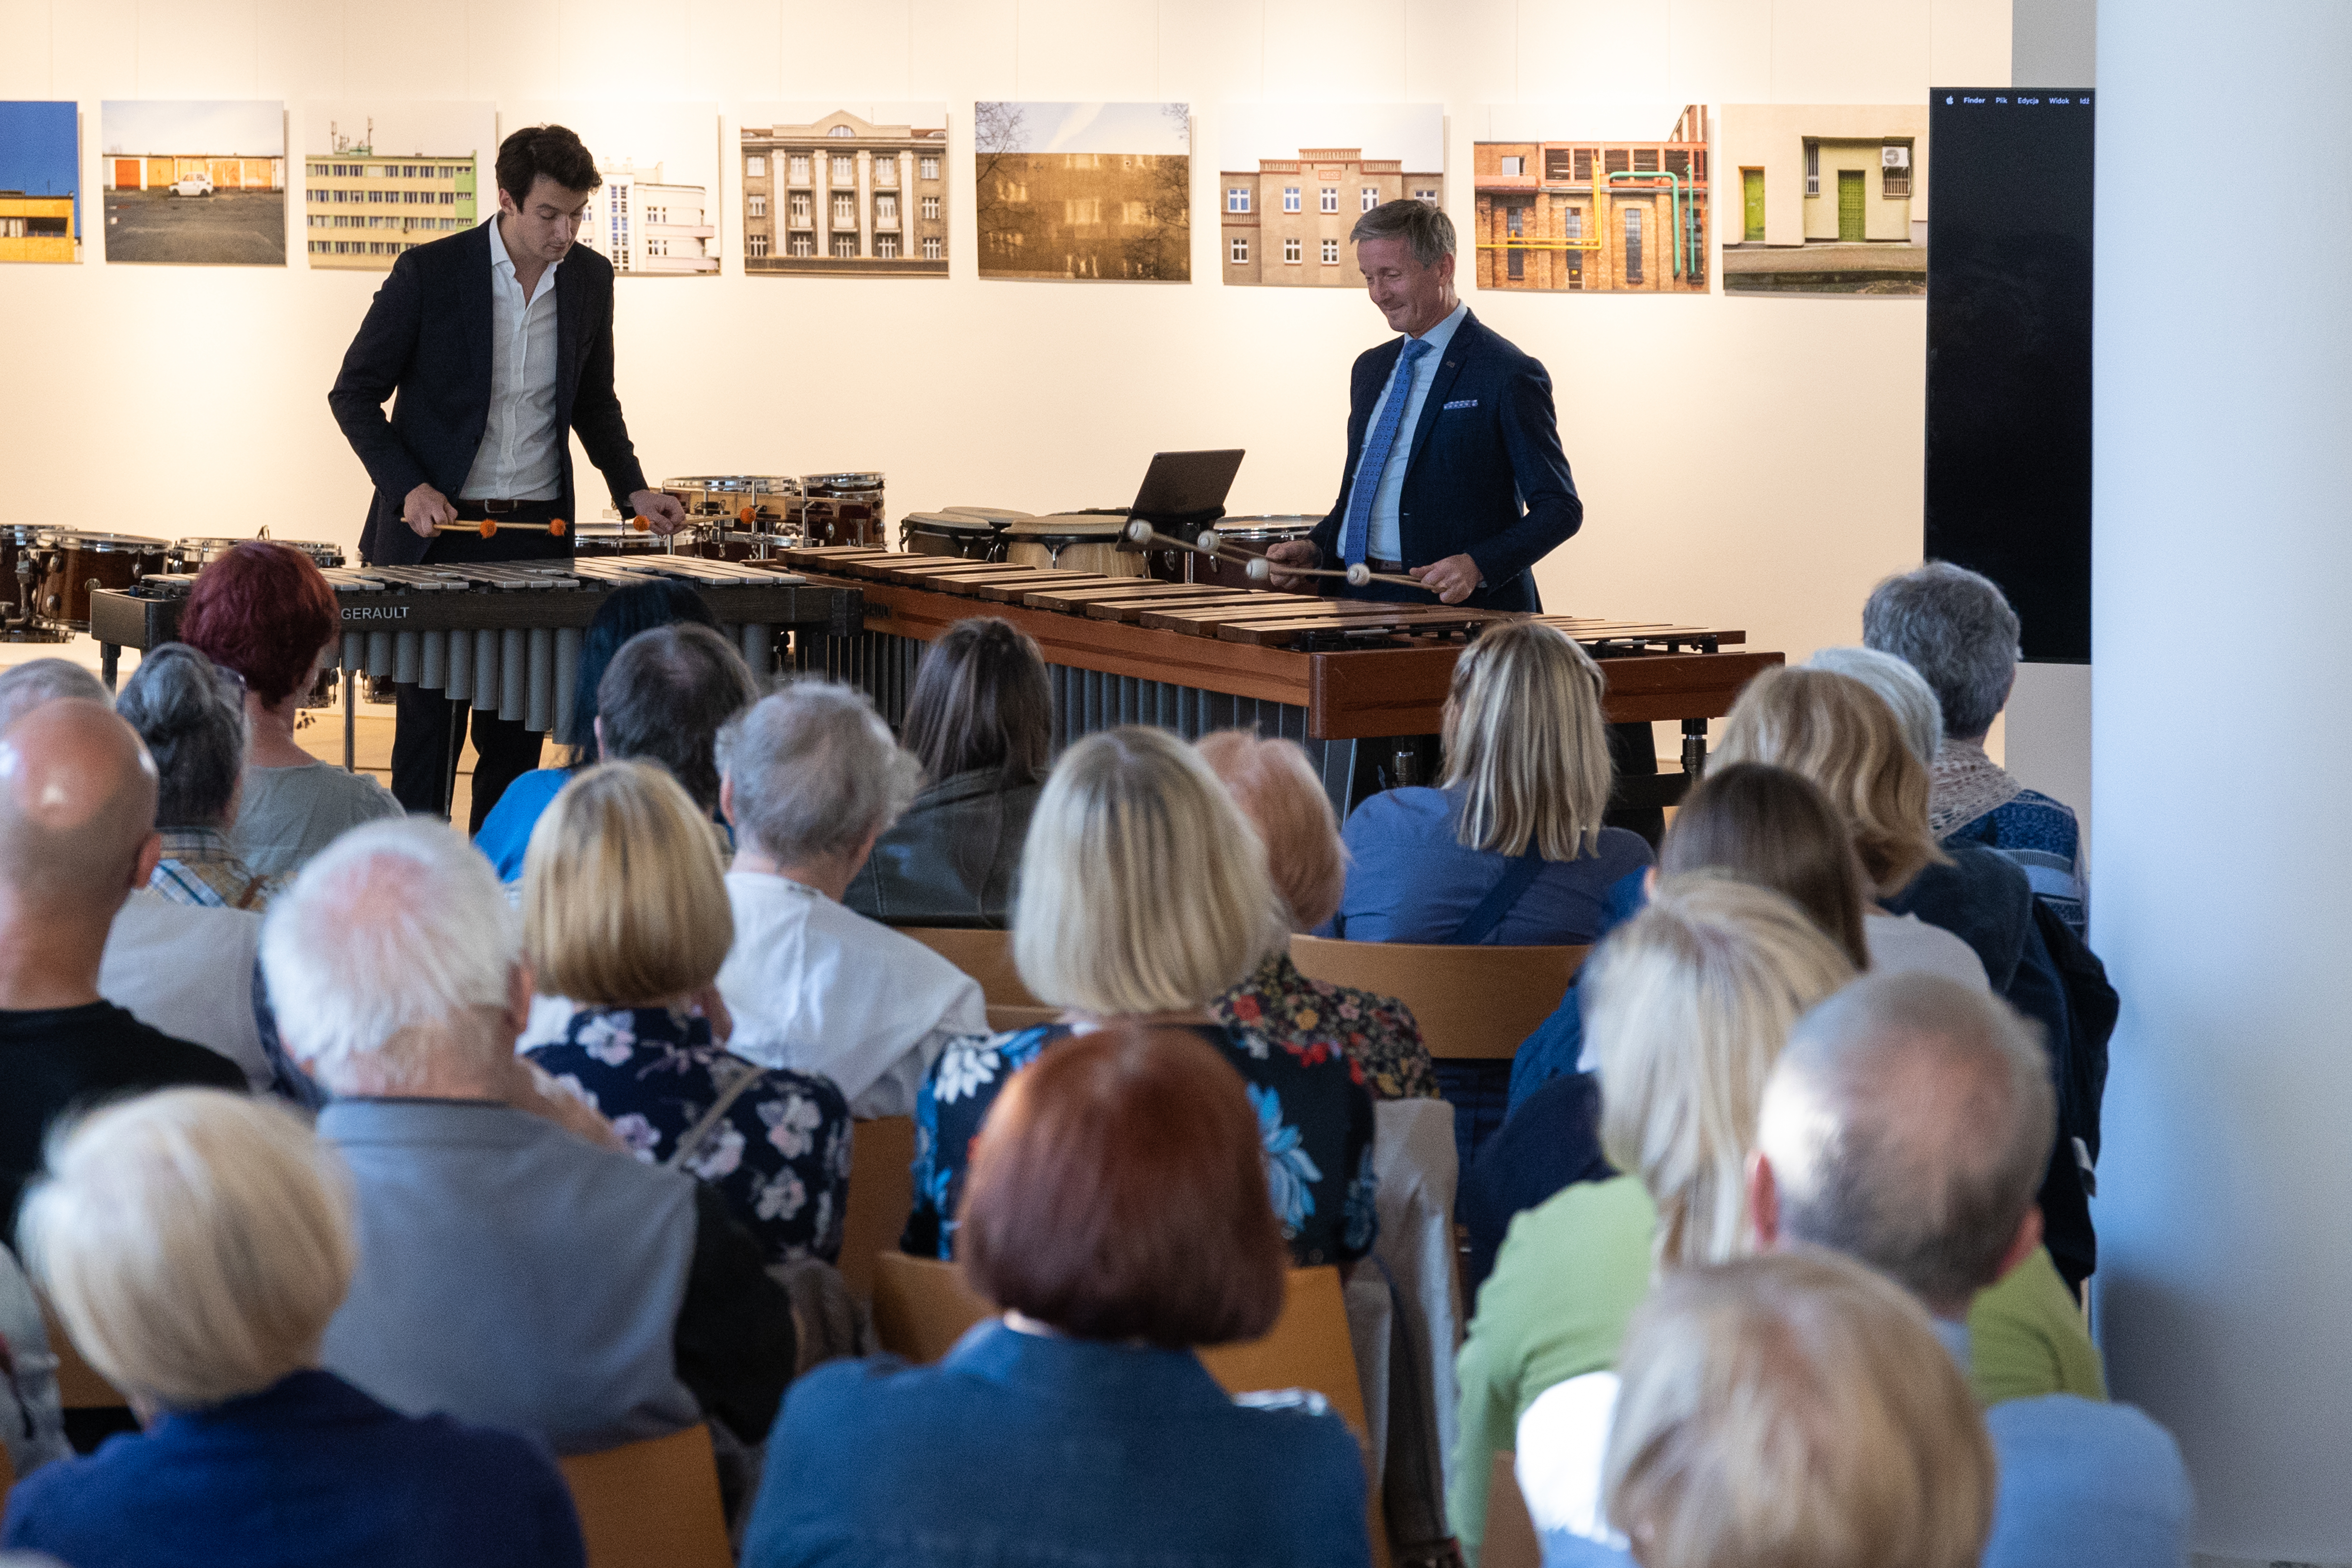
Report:
[[[1863,642],[1915,665],[1943,705],[1929,825],[1947,844],[1997,849],[2074,929],[2089,922],[2074,811],[1985,755],[2018,679],[2018,611],[1999,585],[1950,562],[1891,576],[1863,604]]]

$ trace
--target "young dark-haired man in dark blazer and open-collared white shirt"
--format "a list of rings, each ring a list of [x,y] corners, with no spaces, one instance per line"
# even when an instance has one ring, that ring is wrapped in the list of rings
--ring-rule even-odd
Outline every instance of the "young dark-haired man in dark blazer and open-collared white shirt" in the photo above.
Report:
[[[499,216],[421,244],[390,277],[327,393],[334,423],[376,482],[360,559],[572,559],[572,536],[440,524],[579,520],[572,442],[604,473],[623,517],[654,531],[684,522],[675,496],[649,489],[612,388],[612,263],[576,247],[588,197],[604,183],[581,139],[534,125],[499,146]],[[395,397],[397,393],[397,397]],[[390,418],[383,400],[395,397]],[[409,811],[449,809],[463,708],[440,691],[397,689],[393,795]],[[473,813],[539,766],[539,736],[496,712],[473,715]]]

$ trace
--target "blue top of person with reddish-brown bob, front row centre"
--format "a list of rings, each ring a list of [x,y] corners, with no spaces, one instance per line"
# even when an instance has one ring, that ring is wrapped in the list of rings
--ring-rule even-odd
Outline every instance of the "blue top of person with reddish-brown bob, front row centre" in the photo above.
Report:
[[[1336,1415],[1237,1406],[1188,1349],[997,1321],[938,1366],[833,1361],[795,1382],[743,1540],[743,1568],[1369,1561]]]

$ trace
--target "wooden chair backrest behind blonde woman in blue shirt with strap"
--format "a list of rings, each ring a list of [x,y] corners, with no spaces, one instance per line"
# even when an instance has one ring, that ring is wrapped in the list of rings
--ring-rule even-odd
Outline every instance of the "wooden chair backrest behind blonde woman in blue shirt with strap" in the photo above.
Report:
[[[1430,1056],[1508,1058],[1552,1016],[1590,947],[1449,947],[1294,936],[1298,973],[1414,1009]]]

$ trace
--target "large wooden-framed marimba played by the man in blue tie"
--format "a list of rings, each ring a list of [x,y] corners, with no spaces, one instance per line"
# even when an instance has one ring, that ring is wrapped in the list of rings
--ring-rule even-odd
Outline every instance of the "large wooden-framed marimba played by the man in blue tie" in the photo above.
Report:
[[[1359,745],[1435,736],[1454,661],[1496,611],[1310,599],[868,548],[781,550],[779,569],[863,590],[854,635],[795,639],[797,670],[873,693],[894,726],[924,644],[969,616],[1037,639],[1054,682],[1054,743],[1117,724],[1183,736],[1256,729],[1298,741],[1345,811]],[[1733,628],[1538,616],[1592,654],[1613,722],[1682,724],[1682,773],[1618,780],[1628,806],[1672,804],[1705,769],[1708,719],[1780,654],[1726,651]]]

